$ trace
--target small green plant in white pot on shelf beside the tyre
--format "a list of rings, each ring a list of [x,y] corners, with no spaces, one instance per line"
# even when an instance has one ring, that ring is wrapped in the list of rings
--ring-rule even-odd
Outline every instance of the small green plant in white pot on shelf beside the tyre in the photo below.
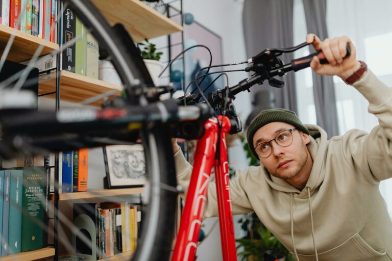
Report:
[[[142,46],[142,49],[141,49]],[[163,64],[159,62],[162,52],[158,51],[154,43],[144,39],[144,42],[138,43],[137,47],[140,50],[141,57],[144,60],[145,66],[149,70],[153,81],[155,81],[163,68]]]

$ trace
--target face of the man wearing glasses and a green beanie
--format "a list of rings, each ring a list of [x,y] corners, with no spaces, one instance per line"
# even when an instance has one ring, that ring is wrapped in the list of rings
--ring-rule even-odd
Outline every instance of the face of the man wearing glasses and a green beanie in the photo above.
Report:
[[[294,126],[284,122],[268,123],[255,133],[253,137],[253,145],[256,146],[263,142],[268,142],[276,137],[276,135],[286,129],[295,128]],[[275,141],[271,141],[271,155],[267,158],[261,158],[260,163],[268,170],[271,175],[283,179],[299,178],[302,168],[310,157],[306,144],[310,142],[307,134],[297,129],[291,132],[292,143],[287,147],[278,145]]]

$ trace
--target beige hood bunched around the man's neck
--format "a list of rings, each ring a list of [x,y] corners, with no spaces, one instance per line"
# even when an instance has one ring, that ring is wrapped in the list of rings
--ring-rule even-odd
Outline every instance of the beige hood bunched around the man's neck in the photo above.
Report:
[[[305,126],[310,132],[310,142],[307,145],[307,148],[313,160],[313,167],[310,172],[308,182],[302,191],[291,186],[284,179],[272,176],[265,168],[262,168],[264,170],[263,176],[269,186],[281,192],[293,193],[293,196],[298,198],[308,198],[307,188],[310,189],[310,195],[312,195],[323,183],[325,172],[322,171],[322,168],[328,147],[327,133],[324,129],[312,124],[305,124]]]

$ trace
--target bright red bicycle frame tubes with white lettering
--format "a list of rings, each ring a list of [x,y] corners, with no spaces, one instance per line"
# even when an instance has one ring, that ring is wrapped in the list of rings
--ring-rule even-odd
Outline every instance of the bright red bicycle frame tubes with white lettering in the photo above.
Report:
[[[172,261],[194,260],[195,258],[207,200],[208,182],[213,165],[215,167],[223,260],[237,260],[225,138],[230,131],[231,123],[226,116],[218,116],[218,120],[210,118],[206,121],[204,124],[205,133],[196,147],[192,176],[181,216],[176,246],[171,258]],[[222,123],[222,130],[220,131],[220,137],[218,137],[218,124],[220,123]],[[218,139],[219,143],[217,143]],[[220,161],[215,159],[216,144],[219,144],[218,156]]]

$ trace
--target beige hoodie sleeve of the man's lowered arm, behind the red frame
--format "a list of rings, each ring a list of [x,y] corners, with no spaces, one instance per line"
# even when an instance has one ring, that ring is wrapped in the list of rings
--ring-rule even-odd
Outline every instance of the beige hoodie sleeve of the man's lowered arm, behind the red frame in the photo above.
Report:
[[[181,149],[174,155],[176,163],[177,182],[184,189],[186,195],[189,187],[192,166],[186,161]],[[235,178],[230,180],[230,192],[233,214],[244,214],[253,211],[248,196],[244,190],[247,180],[247,172],[237,170]],[[184,195],[184,196],[185,196]],[[215,182],[210,181],[207,191],[207,202],[204,209],[204,217],[217,217],[218,203],[216,198]]]

